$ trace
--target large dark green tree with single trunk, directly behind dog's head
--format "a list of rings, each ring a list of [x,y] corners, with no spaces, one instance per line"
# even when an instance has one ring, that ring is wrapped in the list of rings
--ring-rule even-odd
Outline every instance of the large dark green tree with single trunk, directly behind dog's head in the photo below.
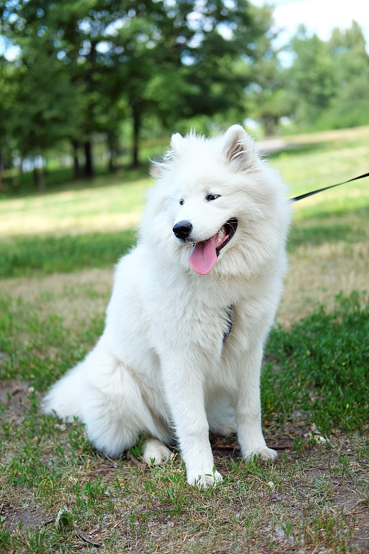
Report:
[[[245,0],[132,1],[116,29],[111,54],[132,116],[133,165],[147,114],[165,127],[181,118],[216,114],[230,106],[244,118],[243,90],[257,56]]]

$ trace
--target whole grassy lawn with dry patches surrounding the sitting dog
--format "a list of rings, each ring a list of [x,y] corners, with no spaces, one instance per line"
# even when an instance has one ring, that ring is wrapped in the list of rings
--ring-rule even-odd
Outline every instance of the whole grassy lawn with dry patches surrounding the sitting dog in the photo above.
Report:
[[[285,141],[269,160],[291,196],[368,171],[368,127]],[[110,460],[39,412],[102,331],[150,184],[125,172],[0,202],[0,552],[368,552],[369,179],[294,205],[262,373],[275,463],[212,436],[225,480],[201,492],[178,453]]]

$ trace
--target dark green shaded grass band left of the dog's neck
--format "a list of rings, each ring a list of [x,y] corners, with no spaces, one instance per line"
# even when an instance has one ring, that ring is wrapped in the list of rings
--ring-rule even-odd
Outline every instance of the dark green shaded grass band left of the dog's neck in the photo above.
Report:
[[[0,278],[111,267],[136,242],[134,231],[62,237],[18,236],[0,245]]]

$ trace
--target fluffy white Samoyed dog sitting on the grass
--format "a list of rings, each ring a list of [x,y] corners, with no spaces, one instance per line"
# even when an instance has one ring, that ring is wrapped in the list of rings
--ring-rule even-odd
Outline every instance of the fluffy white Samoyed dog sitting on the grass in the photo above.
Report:
[[[177,443],[190,485],[222,481],[209,429],[242,456],[276,457],[261,428],[260,365],[286,268],[285,186],[240,125],[174,134],[156,163],[138,244],[116,267],[105,330],[44,411],[75,416],[109,456],[146,437],[147,463]]]

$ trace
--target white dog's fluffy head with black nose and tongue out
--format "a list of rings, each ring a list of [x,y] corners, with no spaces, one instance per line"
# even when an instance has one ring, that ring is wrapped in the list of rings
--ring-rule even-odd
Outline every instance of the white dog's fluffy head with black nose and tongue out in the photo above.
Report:
[[[280,179],[240,125],[215,139],[174,134],[171,147],[155,166],[143,239],[149,233],[172,263],[201,275],[252,274],[285,242],[289,208]]]

